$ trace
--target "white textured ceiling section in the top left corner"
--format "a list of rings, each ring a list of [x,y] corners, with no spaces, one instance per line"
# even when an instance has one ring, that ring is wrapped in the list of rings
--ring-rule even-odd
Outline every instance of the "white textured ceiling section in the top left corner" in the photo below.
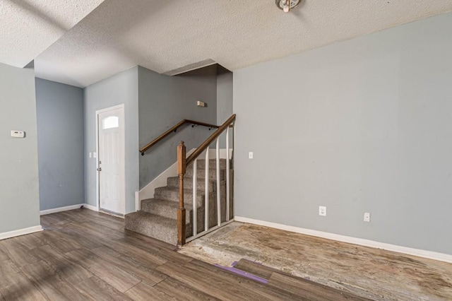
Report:
[[[103,0],[0,0],[0,62],[22,68]]]

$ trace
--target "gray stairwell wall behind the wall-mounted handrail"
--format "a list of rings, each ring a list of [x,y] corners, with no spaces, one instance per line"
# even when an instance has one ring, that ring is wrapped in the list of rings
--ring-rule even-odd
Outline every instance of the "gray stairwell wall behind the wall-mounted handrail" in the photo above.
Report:
[[[182,119],[217,124],[216,66],[179,76],[165,76],[139,67],[138,82],[140,146],[145,146]],[[197,107],[196,100],[202,100],[208,106]],[[203,126],[185,126],[140,156],[140,188],[176,162],[179,141],[185,141],[189,151],[211,133]]]

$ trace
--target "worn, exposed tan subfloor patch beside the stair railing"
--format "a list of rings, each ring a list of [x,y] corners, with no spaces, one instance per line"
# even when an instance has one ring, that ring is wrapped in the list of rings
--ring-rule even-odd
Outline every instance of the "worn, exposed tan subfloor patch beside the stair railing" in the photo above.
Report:
[[[373,300],[452,300],[452,264],[258,225],[231,223],[179,252],[222,266],[249,259]]]

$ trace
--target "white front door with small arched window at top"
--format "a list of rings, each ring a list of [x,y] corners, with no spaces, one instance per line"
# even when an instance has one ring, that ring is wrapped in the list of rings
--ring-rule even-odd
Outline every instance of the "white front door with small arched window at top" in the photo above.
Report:
[[[97,112],[99,208],[123,215],[125,202],[124,106]]]

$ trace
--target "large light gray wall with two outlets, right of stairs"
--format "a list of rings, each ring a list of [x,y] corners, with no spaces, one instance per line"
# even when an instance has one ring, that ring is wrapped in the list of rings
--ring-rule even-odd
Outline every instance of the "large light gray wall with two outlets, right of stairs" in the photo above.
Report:
[[[234,71],[236,215],[452,254],[450,33],[448,13]]]

